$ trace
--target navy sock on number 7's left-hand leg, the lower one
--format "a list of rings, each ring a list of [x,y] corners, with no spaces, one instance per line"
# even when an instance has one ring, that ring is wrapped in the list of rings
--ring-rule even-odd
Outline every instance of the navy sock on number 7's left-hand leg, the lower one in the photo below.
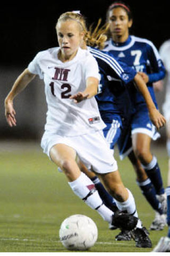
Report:
[[[140,187],[142,194],[146,197],[146,200],[151,205],[151,207],[157,212],[159,212],[160,214],[163,214],[161,204],[156,197],[156,191],[150,179],[148,178],[143,182],[137,181],[137,184]]]

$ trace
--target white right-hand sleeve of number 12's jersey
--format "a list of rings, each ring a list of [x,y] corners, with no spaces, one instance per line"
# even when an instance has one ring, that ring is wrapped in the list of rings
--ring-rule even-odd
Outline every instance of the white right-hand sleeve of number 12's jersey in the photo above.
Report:
[[[85,80],[87,80],[88,77],[95,77],[100,80],[100,73],[97,61],[90,53],[83,65]]]

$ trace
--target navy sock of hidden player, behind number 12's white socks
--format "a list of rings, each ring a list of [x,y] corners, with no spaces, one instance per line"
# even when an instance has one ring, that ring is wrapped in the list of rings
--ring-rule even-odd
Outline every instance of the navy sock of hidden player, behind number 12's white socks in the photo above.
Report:
[[[103,184],[100,182],[99,178],[95,176],[94,178],[91,178],[93,183],[95,184],[95,187],[103,200],[104,204],[111,209],[112,211],[118,210],[116,206],[116,202],[114,201],[113,197],[106,191],[105,187]]]

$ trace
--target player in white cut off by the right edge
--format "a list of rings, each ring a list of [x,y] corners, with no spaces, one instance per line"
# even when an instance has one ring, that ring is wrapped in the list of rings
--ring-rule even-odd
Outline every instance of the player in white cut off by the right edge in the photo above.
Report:
[[[167,136],[167,153],[168,153],[168,179],[165,189],[167,196],[167,224],[168,233],[166,237],[161,237],[153,252],[170,252],[170,39],[166,40],[159,49],[160,56],[166,68],[166,77],[163,84],[166,86],[165,102],[163,112],[166,118],[166,136]],[[162,82],[162,81],[160,81]]]

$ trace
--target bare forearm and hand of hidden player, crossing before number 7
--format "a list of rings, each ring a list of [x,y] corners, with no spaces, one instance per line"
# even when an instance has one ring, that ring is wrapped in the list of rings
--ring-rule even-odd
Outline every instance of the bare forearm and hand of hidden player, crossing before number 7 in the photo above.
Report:
[[[135,85],[138,87],[140,93],[145,98],[147,108],[149,111],[149,117],[152,123],[156,126],[157,129],[163,127],[166,123],[164,116],[156,109],[154,102],[150,96],[149,90],[146,83],[143,81],[139,74],[134,77]]]

